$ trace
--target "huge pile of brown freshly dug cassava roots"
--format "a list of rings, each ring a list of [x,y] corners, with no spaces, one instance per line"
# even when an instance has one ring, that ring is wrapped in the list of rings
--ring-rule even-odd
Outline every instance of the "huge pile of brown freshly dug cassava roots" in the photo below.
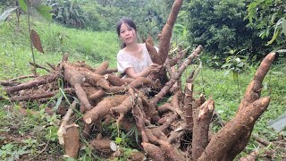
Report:
[[[59,106],[57,110],[63,115],[58,139],[68,157],[78,157],[80,136],[91,140],[89,144],[98,156],[120,157],[122,149],[114,145],[110,136],[102,135],[102,125],[115,121],[122,131],[128,132],[134,126],[139,131],[139,152],[131,153],[130,160],[232,160],[247,146],[254,124],[269,105],[270,98],[260,94],[274,54],[266,55],[258,67],[233,119],[217,133],[210,132],[214,100],[206,100],[204,95],[193,97],[198,70],[189,73],[185,89],[181,89],[181,73],[198,57],[202,47],[191,54],[179,49],[179,55],[169,56],[172,27],[181,4],[182,0],[175,0],[172,5],[159,39],[159,51],[153,47],[152,38],[145,40],[153,63],[163,66],[161,72],[147,78],[120,78],[116,70],[108,68],[108,62],[92,68],[84,62],[70,63],[68,55],[63,55],[60,64],[49,64],[51,70],[33,64],[49,71],[45,76],[32,76],[36,78],[24,83],[15,79],[0,83],[9,99],[16,102],[45,103],[59,92],[72,96],[69,107]],[[174,65],[177,68],[172,72]],[[63,86],[59,87],[59,80],[63,80]],[[178,87],[170,91],[175,83]],[[163,101],[164,97],[170,97],[169,101]],[[80,121],[73,113],[76,109],[83,114]],[[25,113],[25,109],[20,110]],[[46,108],[46,113],[53,111]]]

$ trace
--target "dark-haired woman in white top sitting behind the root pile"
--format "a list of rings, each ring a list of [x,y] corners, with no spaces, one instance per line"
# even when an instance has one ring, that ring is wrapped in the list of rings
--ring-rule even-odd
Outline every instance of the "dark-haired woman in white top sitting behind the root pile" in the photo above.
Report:
[[[125,77],[147,77],[151,72],[159,72],[161,65],[153,64],[145,44],[137,42],[137,28],[131,19],[117,22],[116,30],[122,40],[122,49],[117,54],[118,72]]]

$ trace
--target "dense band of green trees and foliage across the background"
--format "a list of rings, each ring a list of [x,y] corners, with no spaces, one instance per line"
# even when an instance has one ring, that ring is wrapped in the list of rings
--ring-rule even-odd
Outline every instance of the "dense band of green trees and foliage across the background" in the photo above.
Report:
[[[34,0],[50,6],[53,20],[80,30],[115,29],[122,17],[133,19],[139,35],[156,38],[172,8],[172,0]],[[16,1],[1,1],[2,10]],[[201,44],[220,67],[230,55],[259,60],[285,48],[285,3],[282,0],[184,1],[172,40],[183,46]]]

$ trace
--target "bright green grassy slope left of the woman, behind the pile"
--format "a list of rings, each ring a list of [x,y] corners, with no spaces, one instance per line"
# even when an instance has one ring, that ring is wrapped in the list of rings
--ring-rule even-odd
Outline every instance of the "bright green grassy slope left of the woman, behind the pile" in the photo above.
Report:
[[[52,22],[32,21],[31,28],[38,32],[45,52],[41,54],[35,50],[37,64],[46,65],[46,62],[58,64],[63,54],[68,53],[71,62],[80,60],[86,61],[91,66],[97,66],[104,61],[109,61],[111,68],[116,67],[119,41],[114,32],[74,30]],[[28,27],[24,19],[21,20],[20,27],[19,31],[14,32],[13,21],[4,22],[1,25],[0,65],[3,66],[0,72],[1,80],[30,73],[29,62],[32,62],[32,56]],[[63,43],[58,33],[61,33]]]

